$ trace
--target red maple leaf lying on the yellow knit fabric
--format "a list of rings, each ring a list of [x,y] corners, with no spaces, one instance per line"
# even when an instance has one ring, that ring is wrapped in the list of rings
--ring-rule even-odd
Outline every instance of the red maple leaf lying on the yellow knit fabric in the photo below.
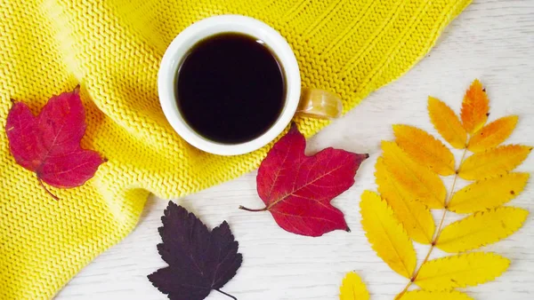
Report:
[[[26,104],[13,101],[5,132],[15,161],[35,172],[47,193],[43,181],[59,188],[82,186],[104,162],[100,154],[80,147],[85,110],[79,86],[53,96],[37,116]]]

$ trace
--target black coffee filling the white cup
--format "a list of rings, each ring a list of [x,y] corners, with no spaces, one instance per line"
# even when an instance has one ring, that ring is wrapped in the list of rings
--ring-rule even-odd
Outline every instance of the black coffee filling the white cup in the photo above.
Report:
[[[199,135],[223,144],[261,136],[278,120],[286,101],[279,61],[258,39],[237,33],[195,44],[175,78],[183,119]]]

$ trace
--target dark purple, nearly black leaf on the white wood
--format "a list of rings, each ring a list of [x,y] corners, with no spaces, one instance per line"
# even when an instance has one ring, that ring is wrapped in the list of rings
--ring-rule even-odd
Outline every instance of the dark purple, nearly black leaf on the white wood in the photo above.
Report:
[[[158,251],[169,266],[148,276],[154,287],[172,300],[201,300],[212,289],[223,293],[220,288],[243,261],[228,223],[224,221],[210,233],[198,217],[173,201],[161,221],[158,231],[163,243],[158,244]]]

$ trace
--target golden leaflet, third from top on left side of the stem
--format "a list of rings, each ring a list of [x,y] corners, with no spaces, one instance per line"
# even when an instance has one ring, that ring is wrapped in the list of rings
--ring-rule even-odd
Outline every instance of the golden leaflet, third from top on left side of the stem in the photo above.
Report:
[[[410,199],[422,201],[431,209],[445,206],[447,190],[441,178],[428,168],[412,161],[394,142],[382,142],[384,164],[399,186],[408,192]]]

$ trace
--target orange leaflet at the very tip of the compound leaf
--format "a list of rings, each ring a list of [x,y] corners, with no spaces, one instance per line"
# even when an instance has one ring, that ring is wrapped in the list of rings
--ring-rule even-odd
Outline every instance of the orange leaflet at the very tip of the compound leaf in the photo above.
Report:
[[[474,133],[482,128],[488,120],[490,111],[490,99],[482,83],[475,79],[469,90],[465,92],[464,101],[462,102],[462,122],[464,128],[469,133]]]

